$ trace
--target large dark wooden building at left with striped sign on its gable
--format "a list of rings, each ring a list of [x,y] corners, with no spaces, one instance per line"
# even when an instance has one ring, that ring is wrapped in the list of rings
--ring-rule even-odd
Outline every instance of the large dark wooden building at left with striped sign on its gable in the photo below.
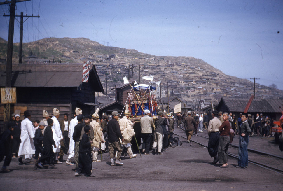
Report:
[[[0,64],[0,87],[5,87],[6,64]],[[53,108],[60,110],[60,119],[64,113],[70,116],[76,107],[83,114],[95,111],[95,92],[104,93],[104,89],[92,66],[88,82],[82,82],[83,64],[13,64],[12,87],[16,87],[17,103],[11,104],[11,113],[30,110],[32,121],[41,120],[45,109],[52,114]],[[1,104],[0,121],[3,123]],[[2,126],[2,125],[1,125]],[[2,126],[3,127],[3,126]]]

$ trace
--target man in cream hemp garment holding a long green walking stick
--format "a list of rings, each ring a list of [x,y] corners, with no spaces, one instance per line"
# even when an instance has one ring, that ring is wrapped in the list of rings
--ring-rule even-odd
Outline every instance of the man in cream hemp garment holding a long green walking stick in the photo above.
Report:
[[[130,159],[135,158],[137,154],[133,154],[132,148],[131,148],[131,141],[132,137],[135,135],[133,125],[134,123],[129,120],[129,117],[132,115],[129,110],[126,110],[124,112],[123,118],[119,120],[120,130],[123,136],[123,142],[122,147],[127,148],[127,153],[130,157]]]

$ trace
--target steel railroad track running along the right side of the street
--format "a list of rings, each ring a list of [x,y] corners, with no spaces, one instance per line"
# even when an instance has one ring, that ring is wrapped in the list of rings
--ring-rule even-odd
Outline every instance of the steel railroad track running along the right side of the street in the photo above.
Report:
[[[182,127],[181,127],[181,129],[184,130]],[[184,130],[184,131],[185,131],[185,130]],[[174,133],[174,134],[177,135],[177,136],[183,137],[184,139],[187,139],[187,137],[185,137],[185,136],[182,136],[182,135],[179,135],[179,134],[176,134],[176,133]],[[206,136],[197,135],[197,134],[194,134],[194,135],[200,136],[200,137],[204,137],[204,138],[208,139],[208,137],[206,137]],[[197,141],[191,140],[191,142],[194,142],[194,143],[197,143],[197,144],[199,144],[199,145],[202,145],[202,146],[207,147],[206,144],[199,143],[199,142],[197,142]],[[230,145],[233,146],[233,147],[235,147],[235,148],[238,148],[238,147],[239,147],[239,146],[233,145],[233,144],[230,144]],[[254,149],[248,149],[248,151],[253,152],[253,153],[257,153],[257,154],[261,154],[261,155],[269,155],[269,156],[272,156],[272,157],[277,157],[277,158],[279,158],[279,159],[283,159],[283,157],[281,157],[281,156],[273,155],[273,154],[270,154],[270,153],[261,152],[261,151],[254,150]],[[237,155],[234,155],[234,154],[232,154],[232,153],[228,153],[228,155],[229,155],[230,157],[233,157],[233,158],[238,158]],[[273,171],[273,172],[276,172],[276,173],[279,173],[279,174],[283,175],[283,170],[278,169],[278,168],[275,168],[275,167],[271,167],[271,166],[269,166],[269,165],[267,165],[267,164],[263,164],[263,163],[260,163],[260,162],[256,162],[256,161],[250,160],[250,159],[249,159],[249,163],[254,164],[254,165],[258,166],[258,167],[261,167],[261,168],[264,168],[264,169],[267,169],[267,170],[270,170],[270,171]]]

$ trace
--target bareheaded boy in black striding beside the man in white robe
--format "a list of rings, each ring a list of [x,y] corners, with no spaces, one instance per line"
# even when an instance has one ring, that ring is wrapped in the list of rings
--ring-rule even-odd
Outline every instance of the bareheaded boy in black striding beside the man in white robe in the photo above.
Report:
[[[53,139],[53,132],[51,127],[53,126],[53,120],[52,119],[48,119],[47,120],[47,124],[48,126],[46,127],[45,131],[44,131],[44,135],[43,135],[43,155],[41,155],[40,159],[38,162],[42,162],[47,160],[49,166],[49,169],[56,169],[57,167],[54,166],[54,164],[52,163],[53,161],[53,148],[52,145],[54,145],[54,147],[56,148],[56,144],[55,141]]]

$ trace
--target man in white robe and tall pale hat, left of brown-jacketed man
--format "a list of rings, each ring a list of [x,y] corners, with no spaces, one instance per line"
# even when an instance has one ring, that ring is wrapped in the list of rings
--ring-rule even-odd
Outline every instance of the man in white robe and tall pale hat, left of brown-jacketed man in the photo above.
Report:
[[[61,161],[58,161],[58,156],[59,156],[59,151],[61,148],[60,141],[63,139],[63,136],[61,134],[61,129],[60,129],[60,123],[58,121],[58,118],[60,116],[60,111],[57,108],[53,108],[53,117],[51,118],[53,120],[53,126],[51,127],[52,132],[53,132],[53,139],[56,144],[56,148],[53,147],[53,152],[54,152],[54,161],[55,163],[62,163]]]

